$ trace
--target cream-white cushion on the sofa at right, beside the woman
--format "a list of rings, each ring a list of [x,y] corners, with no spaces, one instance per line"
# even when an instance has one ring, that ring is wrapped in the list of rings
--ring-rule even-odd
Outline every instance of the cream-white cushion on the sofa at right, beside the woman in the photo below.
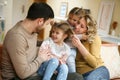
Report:
[[[101,47],[101,57],[110,72],[110,79],[120,78],[120,54],[118,46],[103,44]]]

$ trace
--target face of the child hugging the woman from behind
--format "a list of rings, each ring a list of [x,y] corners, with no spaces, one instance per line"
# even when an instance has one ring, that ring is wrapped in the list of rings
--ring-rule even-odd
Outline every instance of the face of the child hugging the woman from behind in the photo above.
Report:
[[[69,14],[68,23],[71,26],[75,27],[75,25],[77,24],[78,21],[79,21],[79,17],[77,15]]]

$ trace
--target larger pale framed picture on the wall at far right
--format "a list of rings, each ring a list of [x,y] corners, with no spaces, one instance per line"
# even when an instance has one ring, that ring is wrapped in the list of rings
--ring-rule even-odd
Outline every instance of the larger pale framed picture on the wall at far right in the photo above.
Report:
[[[101,1],[98,21],[97,21],[97,29],[99,34],[108,35],[110,24],[112,20],[112,14],[114,9],[113,1]]]

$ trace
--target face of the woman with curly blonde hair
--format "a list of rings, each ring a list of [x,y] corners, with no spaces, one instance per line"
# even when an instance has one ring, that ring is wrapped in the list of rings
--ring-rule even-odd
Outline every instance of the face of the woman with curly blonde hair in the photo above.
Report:
[[[76,24],[75,29],[74,29],[76,34],[83,34],[87,32],[87,22],[85,18],[81,18]]]

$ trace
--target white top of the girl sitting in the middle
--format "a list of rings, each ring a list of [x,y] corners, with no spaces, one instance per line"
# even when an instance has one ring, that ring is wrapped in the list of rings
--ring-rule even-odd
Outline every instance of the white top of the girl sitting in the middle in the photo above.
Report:
[[[52,54],[62,57],[62,55],[67,54],[68,56],[70,55],[70,47],[63,42],[63,45],[59,46],[56,43],[53,42],[53,40],[49,37],[46,40],[43,41],[41,44],[41,48],[45,49],[50,47]]]

